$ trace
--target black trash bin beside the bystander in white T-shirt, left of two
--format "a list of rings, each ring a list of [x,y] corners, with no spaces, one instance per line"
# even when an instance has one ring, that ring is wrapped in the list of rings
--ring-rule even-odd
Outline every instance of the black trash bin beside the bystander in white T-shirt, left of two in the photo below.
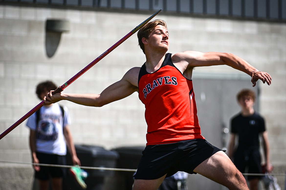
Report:
[[[94,145],[75,145],[76,153],[81,165],[86,167],[107,167],[115,168],[119,157],[116,151],[108,151],[101,146]],[[88,177],[85,180],[87,190],[104,190],[104,181],[107,176],[114,175],[112,170],[104,169],[85,169]],[[81,189],[78,184],[68,181],[65,182],[65,189]],[[72,184],[72,185],[71,185]],[[72,186],[72,187],[70,187]]]

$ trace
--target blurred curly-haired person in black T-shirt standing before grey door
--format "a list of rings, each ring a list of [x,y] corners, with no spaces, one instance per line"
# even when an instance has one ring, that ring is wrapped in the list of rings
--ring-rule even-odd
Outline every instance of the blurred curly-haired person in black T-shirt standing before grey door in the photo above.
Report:
[[[231,136],[228,155],[241,173],[262,173],[261,155],[259,151],[259,137],[262,136],[265,169],[271,172],[272,165],[269,159],[269,142],[265,128],[264,118],[255,112],[253,105],[255,93],[249,89],[243,89],[237,94],[237,101],[241,106],[241,112],[231,118]],[[235,150],[235,138],[238,136],[238,145]],[[246,171],[248,168],[248,171]],[[258,189],[261,176],[249,175],[251,190]]]

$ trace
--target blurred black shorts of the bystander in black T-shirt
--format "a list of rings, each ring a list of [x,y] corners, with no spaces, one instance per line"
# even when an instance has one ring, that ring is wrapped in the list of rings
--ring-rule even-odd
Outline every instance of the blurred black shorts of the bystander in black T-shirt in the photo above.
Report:
[[[259,148],[239,150],[233,156],[233,163],[241,173],[262,173],[261,155]],[[248,175],[247,179],[261,178],[259,175]]]

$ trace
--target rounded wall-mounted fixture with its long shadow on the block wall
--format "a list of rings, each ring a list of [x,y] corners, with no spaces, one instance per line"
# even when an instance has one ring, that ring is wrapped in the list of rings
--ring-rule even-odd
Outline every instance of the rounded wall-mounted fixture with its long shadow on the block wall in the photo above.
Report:
[[[61,40],[61,33],[69,32],[70,23],[67,20],[59,19],[48,19],[46,21],[46,38],[45,38],[45,47],[46,53],[49,58],[51,58]]]

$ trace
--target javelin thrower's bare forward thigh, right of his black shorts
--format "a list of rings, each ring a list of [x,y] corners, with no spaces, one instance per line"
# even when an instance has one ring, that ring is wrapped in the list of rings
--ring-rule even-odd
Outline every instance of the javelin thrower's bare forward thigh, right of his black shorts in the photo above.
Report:
[[[222,184],[239,171],[223,151],[218,151],[200,163],[194,172]]]

